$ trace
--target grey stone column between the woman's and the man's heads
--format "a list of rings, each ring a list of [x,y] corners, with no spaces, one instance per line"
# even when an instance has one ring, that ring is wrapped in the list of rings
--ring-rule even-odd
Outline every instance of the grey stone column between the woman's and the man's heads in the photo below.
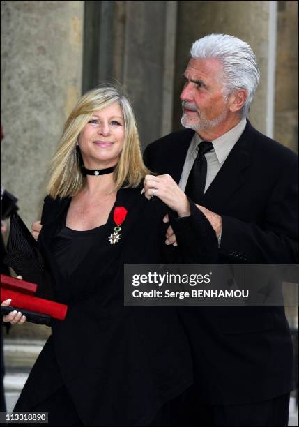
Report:
[[[171,132],[176,1],[128,1],[123,82],[141,144]]]

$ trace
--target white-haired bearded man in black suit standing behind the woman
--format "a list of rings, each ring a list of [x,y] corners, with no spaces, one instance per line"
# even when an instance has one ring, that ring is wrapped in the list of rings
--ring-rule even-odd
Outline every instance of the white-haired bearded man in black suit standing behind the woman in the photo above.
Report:
[[[183,77],[187,129],[146,147],[146,165],[166,174],[146,177],[146,194],[185,190],[215,230],[219,263],[298,262],[298,157],[246,119],[259,84],[254,52],[211,34],[192,45]],[[293,350],[284,308],[178,311],[194,364],[185,424],[286,426]]]

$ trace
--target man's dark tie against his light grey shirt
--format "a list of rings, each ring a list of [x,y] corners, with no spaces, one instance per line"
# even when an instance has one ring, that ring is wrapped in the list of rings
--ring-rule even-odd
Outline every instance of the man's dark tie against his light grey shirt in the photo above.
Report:
[[[198,202],[204,195],[206,186],[207,163],[205,153],[213,149],[212,142],[201,141],[198,145],[197,158],[194,160],[192,169],[185,188],[185,193],[193,202]]]

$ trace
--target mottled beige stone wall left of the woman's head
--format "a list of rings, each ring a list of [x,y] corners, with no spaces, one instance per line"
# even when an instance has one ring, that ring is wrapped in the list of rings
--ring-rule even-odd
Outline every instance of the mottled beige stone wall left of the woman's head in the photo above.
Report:
[[[47,167],[81,95],[84,1],[1,1],[1,184],[28,227],[40,219]],[[49,328],[16,325],[10,336]]]

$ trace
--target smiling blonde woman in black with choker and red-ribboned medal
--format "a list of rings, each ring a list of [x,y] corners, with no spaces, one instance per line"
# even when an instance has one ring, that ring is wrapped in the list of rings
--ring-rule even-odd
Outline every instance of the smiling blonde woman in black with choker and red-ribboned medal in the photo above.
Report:
[[[48,412],[59,426],[183,422],[192,355],[176,307],[124,306],[123,264],[213,262],[217,239],[171,177],[156,188],[148,174],[128,99],[114,87],[82,96],[52,162],[38,239],[68,313],[52,322],[15,412]],[[164,244],[167,213],[178,248]]]

